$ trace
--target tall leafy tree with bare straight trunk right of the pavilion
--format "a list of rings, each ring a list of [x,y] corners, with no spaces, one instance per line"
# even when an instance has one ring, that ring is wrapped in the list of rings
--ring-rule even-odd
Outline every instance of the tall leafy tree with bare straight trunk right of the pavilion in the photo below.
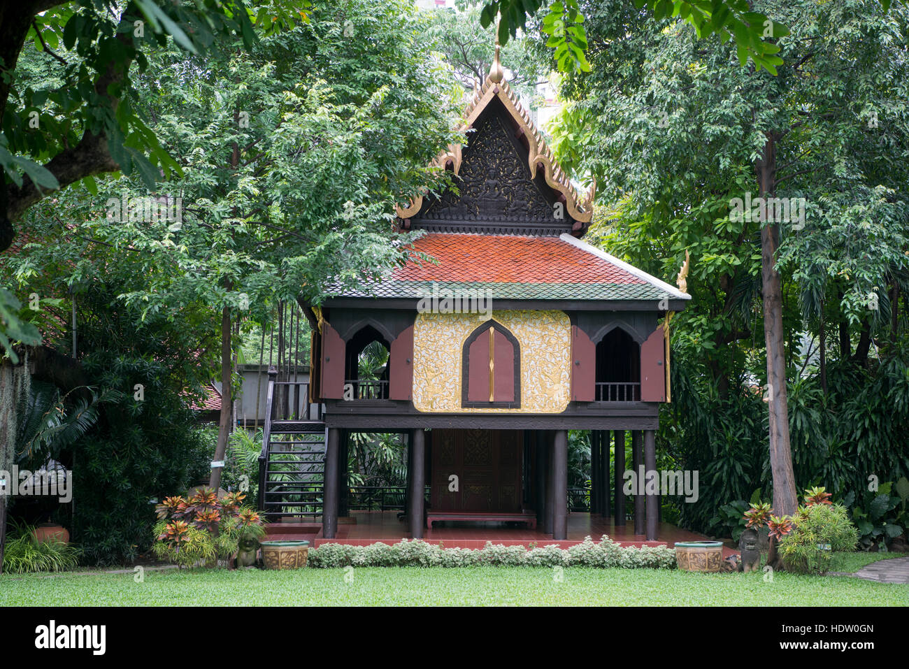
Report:
[[[882,286],[898,284],[909,261],[909,12],[863,1],[754,7],[792,26],[778,41],[777,76],[735,65],[734,45],[699,42],[684,22],[601,3],[587,22],[594,69],[565,86],[575,102],[557,132],[597,156],[601,199],[617,216],[606,233],[634,246],[635,260],[655,250],[662,263],[645,265],[671,275],[691,251],[694,304],[676,321],[675,341],[700,349],[720,394],[733,381],[754,384],[747,354],[727,344],[757,341],[760,296],[774,511],[792,514],[786,387],[802,321],[784,293],[791,276],[793,297],[823,295],[847,342],[852,324],[867,330],[857,351],[867,354],[881,320],[867,309],[869,292],[884,305]],[[594,129],[578,123],[591,118]],[[734,215],[734,198],[746,197],[804,198],[806,212],[761,215],[752,205],[752,215]]]

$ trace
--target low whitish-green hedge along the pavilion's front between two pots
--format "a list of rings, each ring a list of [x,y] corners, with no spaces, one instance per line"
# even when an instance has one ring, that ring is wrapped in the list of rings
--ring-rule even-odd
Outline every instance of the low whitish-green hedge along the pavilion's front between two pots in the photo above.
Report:
[[[626,569],[674,569],[675,549],[667,546],[623,547],[604,535],[599,542],[588,536],[583,544],[559,548],[557,544],[505,546],[486,542],[483,548],[445,548],[415,539],[398,544],[322,544],[309,551],[313,567],[468,567],[494,566],[579,566],[624,567]]]

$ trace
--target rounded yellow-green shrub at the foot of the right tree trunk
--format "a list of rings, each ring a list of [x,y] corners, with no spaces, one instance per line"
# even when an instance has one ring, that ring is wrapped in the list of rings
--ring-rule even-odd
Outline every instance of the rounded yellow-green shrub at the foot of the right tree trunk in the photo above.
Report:
[[[812,504],[802,507],[792,519],[792,529],[780,539],[779,551],[786,569],[824,574],[832,551],[852,551],[857,542],[858,532],[842,504]]]

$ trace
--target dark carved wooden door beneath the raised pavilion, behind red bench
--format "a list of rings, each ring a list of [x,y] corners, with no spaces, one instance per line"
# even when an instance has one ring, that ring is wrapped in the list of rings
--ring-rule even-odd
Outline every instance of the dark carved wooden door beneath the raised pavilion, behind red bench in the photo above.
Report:
[[[520,512],[523,446],[520,430],[433,430],[433,510]]]

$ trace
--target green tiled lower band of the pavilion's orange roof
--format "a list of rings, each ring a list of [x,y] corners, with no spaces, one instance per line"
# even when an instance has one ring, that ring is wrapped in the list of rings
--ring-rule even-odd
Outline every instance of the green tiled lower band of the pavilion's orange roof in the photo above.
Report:
[[[506,284],[497,282],[397,281],[390,279],[375,286],[375,291],[344,291],[338,297],[392,297],[419,299],[432,297],[434,286],[443,290],[485,290],[494,300],[661,300],[664,291],[650,284]],[[444,297],[442,295],[441,297]]]

